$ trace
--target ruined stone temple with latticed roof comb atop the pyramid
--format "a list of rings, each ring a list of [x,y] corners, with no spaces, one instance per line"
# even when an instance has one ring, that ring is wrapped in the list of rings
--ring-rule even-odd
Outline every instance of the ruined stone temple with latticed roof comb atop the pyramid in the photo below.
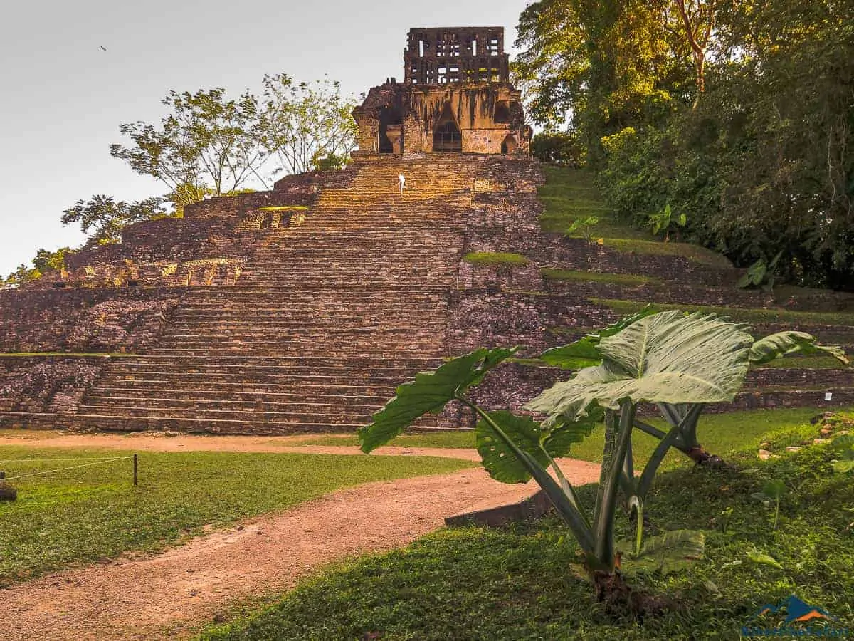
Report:
[[[404,82],[371,88],[353,110],[355,160],[468,153],[525,156],[532,131],[508,78],[504,27],[411,29]]]

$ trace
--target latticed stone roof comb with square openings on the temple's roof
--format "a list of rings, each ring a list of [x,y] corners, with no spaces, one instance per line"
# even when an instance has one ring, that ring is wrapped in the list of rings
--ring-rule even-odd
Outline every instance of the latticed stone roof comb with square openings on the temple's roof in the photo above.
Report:
[[[403,52],[404,82],[507,82],[509,56],[503,26],[411,29]]]

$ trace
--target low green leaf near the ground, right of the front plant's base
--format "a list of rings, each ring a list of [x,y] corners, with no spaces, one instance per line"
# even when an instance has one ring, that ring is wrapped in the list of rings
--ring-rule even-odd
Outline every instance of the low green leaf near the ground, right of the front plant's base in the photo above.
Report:
[[[635,555],[635,540],[617,542],[624,574],[660,572],[670,574],[689,569],[705,553],[705,534],[699,530],[673,530],[647,537]]]

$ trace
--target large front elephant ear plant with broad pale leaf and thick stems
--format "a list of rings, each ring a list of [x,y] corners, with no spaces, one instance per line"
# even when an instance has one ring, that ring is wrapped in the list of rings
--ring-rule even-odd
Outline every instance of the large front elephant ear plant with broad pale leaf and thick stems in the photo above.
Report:
[[[446,362],[435,372],[419,373],[398,387],[397,395],[373,415],[371,425],[360,429],[359,437],[362,450],[370,452],[419,416],[441,411],[448,401],[470,407],[479,417],[477,450],[488,473],[506,483],[535,479],[576,538],[598,599],[643,615],[660,609],[662,603],[635,594],[625,584],[614,536],[617,492],[621,479],[627,478],[638,405],[701,407],[732,400],[744,382],[753,339],[744,326],[715,315],[679,311],[637,315],[618,325],[596,338],[598,365],[583,368],[526,406],[547,415],[542,423],[506,411],[487,412],[465,396],[489,369],[516,351],[481,349]],[[689,412],[686,420],[697,413],[699,409]],[[591,515],[556,459],[569,454],[570,446],[586,438],[602,419],[605,450]],[[678,427],[670,430],[668,447]],[[664,444],[663,448],[666,451]],[[648,485],[663,457],[664,453],[653,456],[640,480],[632,473],[631,483]],[[639,494],[626,489],[633,497]],[[642,519],[638,521],[642,526]]]

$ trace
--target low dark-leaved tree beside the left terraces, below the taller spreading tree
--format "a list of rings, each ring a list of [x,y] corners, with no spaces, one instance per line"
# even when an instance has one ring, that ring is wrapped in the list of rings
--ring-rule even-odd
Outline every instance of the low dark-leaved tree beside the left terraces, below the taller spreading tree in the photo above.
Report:
[[[128,204],[112,196],[93,196],[88,202],[79,200],[65,209],[60,220],[63,225],[78,222],[80,231],[90,234],[88,244],[118,243],[126,226],[166,217],[164,202],[164,198],[155,197]]]

